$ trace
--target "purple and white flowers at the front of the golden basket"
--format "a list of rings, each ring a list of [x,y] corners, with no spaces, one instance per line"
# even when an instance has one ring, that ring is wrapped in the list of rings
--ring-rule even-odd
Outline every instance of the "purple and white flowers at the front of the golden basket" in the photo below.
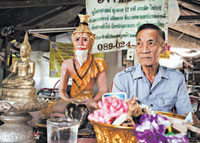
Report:
[[[183,134],[165,134],[169,122],[159,114],[143,114],[140,123],[134,126],[137,141],[140,143],[188,143]]]

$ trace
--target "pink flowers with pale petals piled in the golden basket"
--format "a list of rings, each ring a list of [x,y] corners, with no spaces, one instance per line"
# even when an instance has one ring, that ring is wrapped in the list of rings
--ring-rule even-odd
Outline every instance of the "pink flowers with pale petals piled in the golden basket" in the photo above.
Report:
[[[116,97],[106,97],[104,101],[99,101],[98,105],[100,109],[90,114],[88,116],[89,120],[111,124],[114,119],[128,112],[127,103]]]

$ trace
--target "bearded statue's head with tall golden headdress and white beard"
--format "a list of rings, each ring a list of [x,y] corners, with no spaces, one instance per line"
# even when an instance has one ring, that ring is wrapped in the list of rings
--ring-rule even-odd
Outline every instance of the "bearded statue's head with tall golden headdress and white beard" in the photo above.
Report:
[[[79,14],[78,16],[80,18],[80,25],[73,32],[72,41],[74,44],[74,56],[80,66],[82,66],[88,56],[92,54],[95,34],[88,27],[89,15]]]

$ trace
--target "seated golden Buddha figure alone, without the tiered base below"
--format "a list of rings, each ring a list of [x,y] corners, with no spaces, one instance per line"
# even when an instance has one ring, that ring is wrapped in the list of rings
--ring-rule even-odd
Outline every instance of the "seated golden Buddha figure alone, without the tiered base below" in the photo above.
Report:
[[[28,34],[25,34],[24,42],[20,46],[20,60],[12,67],[11,74],[3,80],[5,88],[29,88],[35,85],[33,80],[35,63],[30,60],[31,45],[28,42]]]

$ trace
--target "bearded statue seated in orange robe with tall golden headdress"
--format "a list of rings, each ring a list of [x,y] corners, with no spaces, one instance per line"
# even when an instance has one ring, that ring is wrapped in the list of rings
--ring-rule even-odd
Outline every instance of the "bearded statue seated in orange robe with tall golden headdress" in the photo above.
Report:
[[[95,34],[88,27],[89,15],[79,15],[79,18],[80,25],[72,34],[74,58],[65,60],[61,66],[59,96],[62,102],[54,106],[51,117],[64,117],[65,106],[74,101],[96,108],[97,101],[107,92],[106,63],[92,55]],[[66,92],[69,77],[72,77],[70,95]],[[96,83],[98,92],[94,95]]]

